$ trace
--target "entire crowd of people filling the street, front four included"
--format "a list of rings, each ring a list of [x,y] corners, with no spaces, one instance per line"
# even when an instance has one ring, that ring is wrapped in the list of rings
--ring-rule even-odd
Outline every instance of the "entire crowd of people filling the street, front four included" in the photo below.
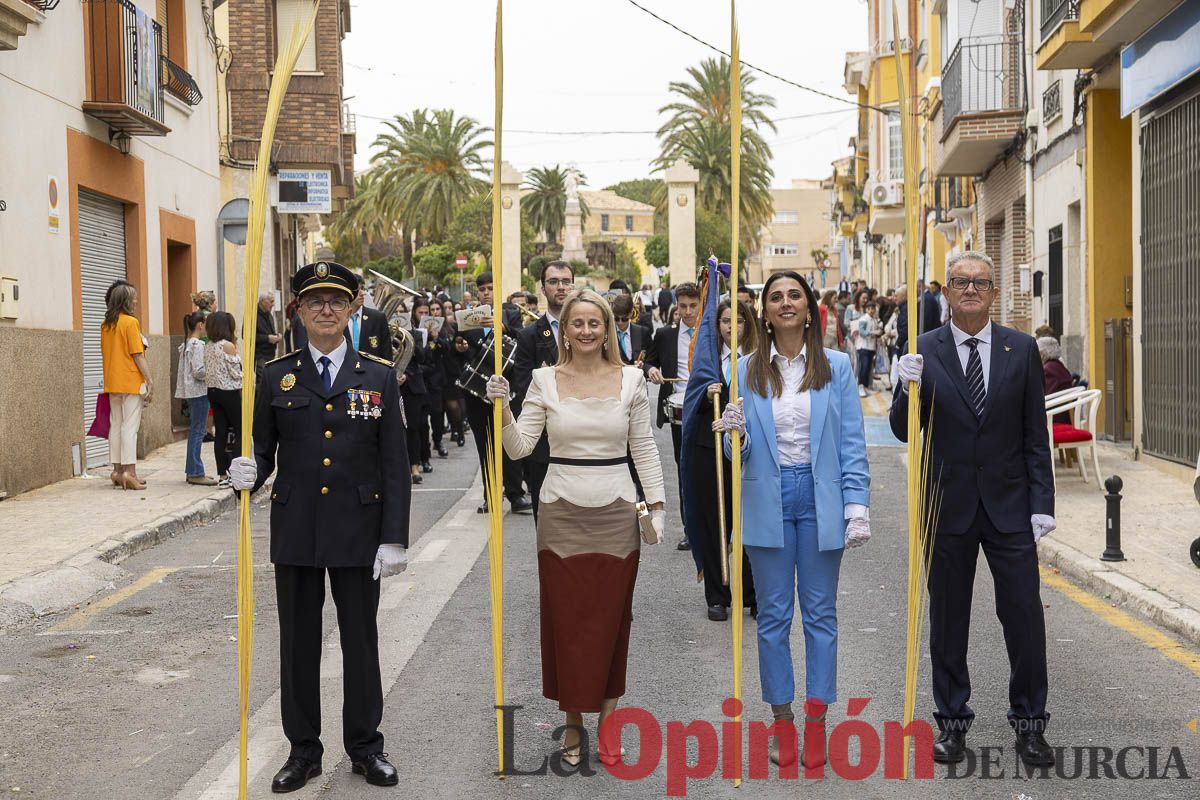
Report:
[[[434,287],[403,290],[395,302],[384,287],[368,293],[361,276],[319,261],[293,276],[295,300],[282,333],[271,319],[272,297],[260,299],[248,458],[239,455],[236,320],[211,307],[190,314],[176,390],[192,416],[188,480],[205,477],[198,449],[209,408],[218,480],[253,492],[275,474],[271,560],[282,724],[292,751],[272,789],[298,789],[320,772],[326,573],[347,664],[344,747],[368,782],[397,782],[379,732],[379,581],[407,566],[412,486],[433,470],[434,452],[448,457],[448,441],[462,447],[469,431],[488,480],[494,404],[503,408],[498,494],[512,512],[533,515],[536,528],[542,692],[565,715],[564,763],[588,758],[584,714],[599,715],[599,758],[622,758],[619,734],[604,721],[626,688],[641,548],[664,540],[676,501],[684,522],[677,547],[692,554],[707,616],[728,619],[736,446],[743,464],[740,604],[756,620],[762,700],[776,723],[794,724],[790,633],[798,603],[805,643],[799,699],[806,721],[820,722],[838,699],[844,554],[871,537],[862,397],[877,383],[894,387],[890,422],[901,439],[907,392],[918,387],[923,425],[935,410],[938,420],[932,473],[955,467],[944,470],[946,501],[931,542],[935,759],[964,758],[973,718],[966,631],[982,548],[1013,662],[1008,716],[1019,753],[1030,764],[1051,763],[1036,542],[1054,529],[1054,489],[1045,426],[1032,417],[1042,413],[1043,378],[1049,381],[1043,362],[1057,356],[990,321],[998,293],[991,275],[986,255],[959,254],[947,265],[947,285],[918,284],[914,303],[906,302],[906,287],[880,294],[858,282],[818,295],[812,276],[791,271],[773,273],[761,293],[743,287],[736,297],[721,296],[714,270],[654,296],[649,287],[635,293],[622,282],[604,294],[577,288],[569,263],[548,261],[538,276],[539,309],[532,293],[494,297],[488,272],[462,301]],[[112,417],[119,437],[152,392],[136,320],[124,321],[132,319],[131,291],[113,291],[106,320],[106,384],[108,356],[114,363],[128,359],[114,366],[109,389],[121,407]],[[910,307],[920,314],[916,354],[906,342]],[[738,403],[730,398],[734,309]],[[503,319],[500,342],[494,314]],[[287,353],[274,357],[282,342]],[[497,347],[500,374],[492,371]],[[655,426],[671,433],[679,493],[670,499]],[[991,444],[967,446],[978,437]],[[125,452],[119,440],[114,483],[137,480]],[[486,497],[493,495],[485,495],[480,512],[488,511]],[[697,607],[700,601],[697,593]],[[780,746],[786,741],[772,748],[776,764],[823,762],[816,742],[790,752]]]

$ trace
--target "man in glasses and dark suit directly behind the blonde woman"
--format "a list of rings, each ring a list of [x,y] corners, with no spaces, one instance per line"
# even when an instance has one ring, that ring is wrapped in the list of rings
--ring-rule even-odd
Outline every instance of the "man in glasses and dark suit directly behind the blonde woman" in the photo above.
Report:
[[[521,403],[524,401],[533,371],[558,363],[558,343],[562,332],[558,317],[563,313],[563,303],[575,284],[575,270],[566,261],[547,261],[541,267],[541,290],[546,295],[546,313],[536,321],[517,331],[517,351],[512,361],[512,414],[521,415]],[[550,439],[542,432],[541,439],[533,452],[522,461],[526,485],[529,487],[529,499],[533,501],[533,517],[538,519],[538,499],[541,485],[550,469]]]

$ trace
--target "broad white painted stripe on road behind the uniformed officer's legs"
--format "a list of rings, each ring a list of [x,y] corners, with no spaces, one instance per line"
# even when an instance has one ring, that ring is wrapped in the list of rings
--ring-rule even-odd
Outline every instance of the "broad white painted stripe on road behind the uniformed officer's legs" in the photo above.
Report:
[[[413,579],[390,578],[384,581],[379,599],[380,610],[391,610],[403,603],[403,613],[379,614],[379,668],[383,678],[384,697],[400,679],[401,672],[420,646],[425,634],[433,626],[442,608],[449,602],[458,584],[470,572],[480,553],[487,546],[485,518],[476,516],[472,498],[482,491],[482,480],[476,479],[472,492],[464,495],[430,530],[445,531],[462,529],[446,540],[445,558],[427,561],[420,576]],[[467,521],[474,524],[467,524]],[[461,521],[461,522],[460,522]],[[455,524],[458,523],[458,524]],[[430,546],[436,541],[431,540]],[[428,547],[428,546],[427,546]],[[410,591],[412,589],[419,591]],[[330,631],[323,648],[320,676],[322,708],[331,720],[337,720],[342,705],[342,651],[337,646],[337,630]],[[396,702],[403,702],[398,698]],[[384,712],[384,728],[388,714]],[[330,726],[329,738],[338,741],[336,723]],[[247,742],[247,781],[251,796],[268,796],[271,774],[287,757],[289,745],[280,724],[280,692],[274,692],[250,717]],[[338,771],[334,762],[337,747],[325,752],[325,772]],[[344,758],[344,757],[343,757]],[[224,742],[208,763],[175,794],[175,800],[228,800],[238,796],[238,734]],[[313,781],[298,796],[316,796],[322,790],[322,781]]]

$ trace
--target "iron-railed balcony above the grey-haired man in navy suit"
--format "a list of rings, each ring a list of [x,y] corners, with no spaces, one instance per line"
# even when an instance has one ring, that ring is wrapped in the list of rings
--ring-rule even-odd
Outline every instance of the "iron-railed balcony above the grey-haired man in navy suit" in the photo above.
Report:
[[[1022,73],[1020,38],[959,41],[942,68],[937,175],[979,175],[1008,149],[1025,125]]]

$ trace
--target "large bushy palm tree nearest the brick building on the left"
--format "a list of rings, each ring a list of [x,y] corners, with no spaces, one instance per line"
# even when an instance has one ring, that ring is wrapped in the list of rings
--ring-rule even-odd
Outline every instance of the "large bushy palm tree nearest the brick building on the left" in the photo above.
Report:
[[[380,170],[380,206],[409,234],[442,241],[454,212],[487,190],[481,152],[492,146],[490,128],[451,109],[416,109],[385,122],[371,157]]]

